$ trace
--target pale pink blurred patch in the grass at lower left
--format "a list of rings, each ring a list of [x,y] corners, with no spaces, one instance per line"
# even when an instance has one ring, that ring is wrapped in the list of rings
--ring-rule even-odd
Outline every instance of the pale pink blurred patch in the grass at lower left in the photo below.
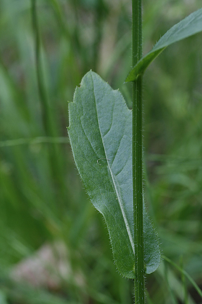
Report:
[[[68,250],[62,242],[42,245],[32,256],[12,268],[11,278],[49,289],[59,289],[64,281],[80,287],[85,285],[82,272],[72,270]]]

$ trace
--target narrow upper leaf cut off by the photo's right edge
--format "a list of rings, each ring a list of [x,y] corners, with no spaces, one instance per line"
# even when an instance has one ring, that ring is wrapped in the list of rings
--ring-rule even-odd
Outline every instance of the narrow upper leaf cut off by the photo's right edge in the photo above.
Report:
[[[202,8],[171,27],[155,44],[153,49],[142,57],[126,77],[127,81],[134,81],[144,73],[148,65],[170,44],[187,38],[202,31]]]

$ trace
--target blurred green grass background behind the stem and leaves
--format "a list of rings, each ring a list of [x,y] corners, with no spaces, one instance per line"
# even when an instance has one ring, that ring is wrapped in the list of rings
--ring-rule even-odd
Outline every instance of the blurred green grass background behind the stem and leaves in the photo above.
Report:
[[[144,0],[143,50],[200,0]],[[0,304],[132,304],[69,146],[68,105],[92,69],[131,106],[129,0],[0,2]],[[144,76],[148,210],[163,254],[202,286],[201,35]],[[202,299],[172,265],[147,276],[148,304]]]

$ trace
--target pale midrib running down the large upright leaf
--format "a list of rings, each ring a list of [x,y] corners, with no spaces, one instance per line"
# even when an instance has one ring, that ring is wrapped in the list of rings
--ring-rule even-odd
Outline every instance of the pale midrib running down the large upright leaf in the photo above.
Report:
[[[95,106],[96,106],[96,114],[97,114],[98,127],[99,127],[99,132],[100,132],[100,136],[101,136],[102,143],[103,143],[103,137],[102,137],[102,133],[101,133],[100,126],[99,126],[98,111],[97,111],[97,104],[96,104],[96,98],[95,98],[94,81],[93,81],[92,72],[91,72],[91,78],[92,78],[92,82],[93,82],[93,95],[94,95],[94,101],[95,101]],[[126,214],[125,214],[124,209],[123,209],[123,202],[122,202],[122,199],[121,199],[121,197],[119,195],[118,189],[116,188],[116,183],[115,183],[115,180],[114,180],[114,177],[113,177],[113,173],[112,173],[112,170],[111,170],[111,168],[109,166],[109,161],[108,161],[108,158],[107,158],[107,155],[106,155],[106,150],[105,150],[104,143],[103,143],[103,148],[104,148],[104,151],[105,151],[106,161],[107,161],[108,168],[109,168],[109,171],[110,171],[110,174],[111,174],[113,185],[114,185],[114,188],[115,188],[115,191],[116,191],[117,200],[119,202],[119,206],[120,206],[120,209],[121,209],[121,212],[122,212],[122,215],[123,215],[124,223],[126,225],[126,230],[127,230],[127,233],[128,233],[130,244],[131,244],[132,249],[133,249],[133,254],[135,255],[135,244],[133,242],[133,237],[132,237],[131,232],[130,232],[130,227],[129,227],[129,224],[128,224],[128,221],[127,221],[127,218],[126,218]]]

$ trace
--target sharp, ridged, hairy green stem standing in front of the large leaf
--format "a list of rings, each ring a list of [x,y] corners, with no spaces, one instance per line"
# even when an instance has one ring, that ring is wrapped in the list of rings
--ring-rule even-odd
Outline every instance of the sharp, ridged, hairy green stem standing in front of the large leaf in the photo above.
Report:
[[[142,5],[132,0],[132,64],[142,57]],[[133,216],[135,243],[135,304],[145,302],[143,244],[142,77],[133,81]]]

